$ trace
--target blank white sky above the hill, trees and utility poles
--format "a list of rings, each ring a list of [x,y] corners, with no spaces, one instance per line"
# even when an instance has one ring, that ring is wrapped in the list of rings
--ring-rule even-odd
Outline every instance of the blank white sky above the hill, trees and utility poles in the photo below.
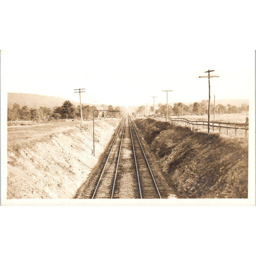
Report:
[[[232,3],[232,4],[231,4]],[[4,1],[1,89],[144,105],[254,96],[253,1]],[[8,39],[7,39],[8,38]],[[3,95],[3,94],[2,94]]]

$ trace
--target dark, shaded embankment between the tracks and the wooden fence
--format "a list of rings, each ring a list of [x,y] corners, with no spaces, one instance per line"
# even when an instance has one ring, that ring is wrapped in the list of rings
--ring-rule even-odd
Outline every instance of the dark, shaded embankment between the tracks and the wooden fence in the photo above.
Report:
[[[178,198],[247,198],[248,143],[153,119],[136,124]]]

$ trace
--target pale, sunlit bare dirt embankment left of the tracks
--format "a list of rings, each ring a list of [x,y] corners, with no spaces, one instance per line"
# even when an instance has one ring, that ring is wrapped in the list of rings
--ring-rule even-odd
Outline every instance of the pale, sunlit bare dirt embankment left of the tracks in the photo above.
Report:
[[[7,198],[73,198],[119,122],[95,122],[95,157],[92,121],[8,148]]]

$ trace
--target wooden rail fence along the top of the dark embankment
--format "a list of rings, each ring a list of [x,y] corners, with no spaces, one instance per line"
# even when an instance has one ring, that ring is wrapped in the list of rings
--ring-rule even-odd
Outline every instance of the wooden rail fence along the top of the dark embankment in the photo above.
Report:
[[[150,115],[149,117],[159,117],[159,118],[164,118],[166,119],[165,115]],[[185,118],[172,118],[172,117],[167,117],[167,119],[171,122],[172,125],[175,125],[177,122],[184,122],[187,124],[188,127],[192,130],[193,128],[198,127],[203,127],[203,129],[208,126],[207,121],[191,121]],[[220,133],[220,128],[225,128],[226,133],[229,134],[229,130],[234,130],[235,136],[237,135],[238,130],[244,130],[245,131],[245,137],[247,137],[248,130],[249,130],[249,125],[247,123],[235,123],[235,122],[210,122],[210,128],[212,131],[217,131],[219,129]]]

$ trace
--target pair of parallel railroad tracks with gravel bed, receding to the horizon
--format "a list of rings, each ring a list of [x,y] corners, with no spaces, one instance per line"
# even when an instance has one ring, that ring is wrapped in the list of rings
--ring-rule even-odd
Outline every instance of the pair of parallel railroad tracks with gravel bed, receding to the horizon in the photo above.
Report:
[[[162,198],[166,193],[152,166],[134,121],[124,117],[102,171],[85,188],[84,196],[76,198]]]

